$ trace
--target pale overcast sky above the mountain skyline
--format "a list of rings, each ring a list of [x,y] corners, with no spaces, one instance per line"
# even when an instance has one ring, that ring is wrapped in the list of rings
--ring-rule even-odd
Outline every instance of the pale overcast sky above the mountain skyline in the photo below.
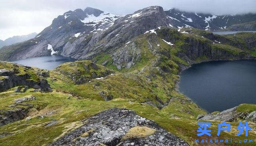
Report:
[[[39,33],[58,15],[77,8],[125,15],[156,5],[216,15],[256,12],[256,0],[0,0],[0,39]]]

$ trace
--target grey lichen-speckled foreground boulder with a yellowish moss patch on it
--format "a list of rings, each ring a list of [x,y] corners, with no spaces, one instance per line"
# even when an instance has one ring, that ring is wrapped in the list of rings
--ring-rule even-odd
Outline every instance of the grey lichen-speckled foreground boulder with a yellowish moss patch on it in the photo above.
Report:
[[[104,110],[85,123],[50,146],[188,146],[181,138],[132,110]]]

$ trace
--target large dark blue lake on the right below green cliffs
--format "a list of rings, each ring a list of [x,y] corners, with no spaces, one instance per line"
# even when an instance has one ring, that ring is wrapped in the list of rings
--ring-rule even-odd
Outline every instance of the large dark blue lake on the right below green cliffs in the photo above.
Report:
[[[194,64],[182,71],[179,90],[208,112],[256,104],[256,60]]]

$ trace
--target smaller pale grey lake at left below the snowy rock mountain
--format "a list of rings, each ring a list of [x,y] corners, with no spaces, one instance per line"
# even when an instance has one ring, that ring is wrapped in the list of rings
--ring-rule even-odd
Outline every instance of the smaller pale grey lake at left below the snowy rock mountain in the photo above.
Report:
[[[12,61],[13,63],[18,63],[21,65],[26,65],[30,67],[38,67],[40,69],[52,70],[59,64],[76,61],[76,59],[70,57],[63,57],[60,55],[51,55],[44,57],[34,57],[28,59],[22,59],[17,61]]]

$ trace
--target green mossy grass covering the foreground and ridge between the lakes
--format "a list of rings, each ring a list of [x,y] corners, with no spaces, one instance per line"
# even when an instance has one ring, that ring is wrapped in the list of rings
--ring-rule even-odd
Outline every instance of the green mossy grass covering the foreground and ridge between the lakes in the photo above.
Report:
[[[173,33],[177,32],[170,30],[168,33],[170,33],[170,36],[173,36]],[[200,33],[208,32],[203,31]],[[116,70],[114,75],[108,75],[104,79],[91,79],[90,83],[76,85],[61,72],[63,70],[72,72],[73,69],[75,71],[77,69],[84,71],[83,65],[90,63],[90,61],[78,61],[78,66],[70,67],[69,63],[66,63],[50,71],[48,82],[54,89],[53,93],[29,92],[32,89],[26,93],[18,93],[18,95],[14,96],[10,96],[13,94],[12,90],[0,93],[1,108],[12,104],[14,99],[24,96],[34,95],[37,99],[36,101],[27,102],[34,105],[29,113],[29,116],[32,116],[31,120],[20,120],[0,127],[2,134],[11,134],[0,138],[0,144],[10,146],[47,145],[55,138],[58,138],[58,136],[80,126],[82,124],[81,120],[84,118],[105,109],[125,107],[135,110],[141,116],[154,120],[169,132],[186,140],[189,144],[196,145],[193,143],[194,139],[198,139],[196,136],[198,128],[196,116],[198,114],[206,114],[206,112],[175,90],[175,84],[178,81],[178,73],[180,71],[178,64],[188,65],[188,63],[177,57],[176,54],[178,51],[181,51],[179,46],[184,44],[183,40],[186,37],[191,37],[189,35],[178,33],[175,46],[168,45],[160,37],[154,36],[154,34],[137,37],[135,43],[141,49],[141,59],[130,69],[118,71],[112,65],[113,60],[109,54],[97,56],[98,58],[95,58],[97,63],[107,60],[106,66]],[[200,41],[211,42],[201,36],[194,37]],[[148,43],[156,48],[157,52],[150,50]],[[220,49],[226,48],[220,46]],[[234,52],[237,50],[237,48],[234,49],[232,47],[230,49],[231,51],[234,50]],[[207,58],[201,57],[198,59],[204,60]],[[101,69],[104,70],[105,67]],[[94,71],[96,72],[96,70],[90,68],[88,73],[84,73],[90,76]],[[99,95],[100,91],[108,91],[113,95],[114,99],[104,101]],[[152,101],[159,105],[159,99],[163,103],[169,100],[171,102],[163,109],[158,109],[144,103]],[[250,107],[250,111],[255,108],[254,105]],[[238,109],[248,110],[247,106],[242,106],[242,108]],[[53,114],[48,114],[44,118],[37,118],[38,115],[51,111],[53,111]],[[52,120],[57,120],[58,123],[49,127],[44,126]],[[215,138],[217,138],[216,130],[218,129],[218,123],[212,122],[211,126],[212,135]],[[233,122],[231,125],[232,131],[225,135],[221,134],[218,138],[236,138],[236,126],[238,123]],[[250,126],[254,129],[256,128],[254,123],[250,123]],[[256,133],[249,132],[249,136],[255,139]],[[242,136],[239,137],[239,139],[243,138]]]

